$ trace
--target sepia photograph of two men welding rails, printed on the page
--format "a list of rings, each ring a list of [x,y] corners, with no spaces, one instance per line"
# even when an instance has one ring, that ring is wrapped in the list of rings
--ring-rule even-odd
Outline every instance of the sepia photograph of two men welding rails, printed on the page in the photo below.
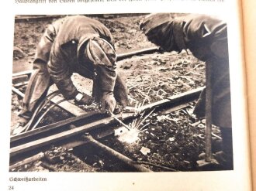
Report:
[[[13,19],[9,172],[234,169],[222,18]]]

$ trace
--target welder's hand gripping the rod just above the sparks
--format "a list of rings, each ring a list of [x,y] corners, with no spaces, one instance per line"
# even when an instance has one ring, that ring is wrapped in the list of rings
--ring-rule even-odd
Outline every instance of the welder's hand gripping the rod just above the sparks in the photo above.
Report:
[[[116,99],[114,97],[114,94],[109,92],[104,92],[102,96],[102,113],[105,113],[106,111],[113,112],[116,107]]]

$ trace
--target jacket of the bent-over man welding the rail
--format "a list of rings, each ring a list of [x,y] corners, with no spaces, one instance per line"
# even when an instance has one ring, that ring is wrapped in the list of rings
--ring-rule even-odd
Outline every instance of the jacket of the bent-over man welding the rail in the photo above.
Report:
[[[71,80],[72,73],[79,73],[88,78],[93,78],[95,75],[95,63],[81,64],[81,62],[85,62],[85,60],[81,60],[80,54],[83,52],[81,49],[84,49],[88,39],[100,37],[106,39],[113,47],[114,41],[106,26],[85,16],[67,17],[58,26],[58,32],[50,52],[48,71],[58,89],[68,99],[78,94],[78,90]],[[97,67],[102,76],[99,78],[104,87],[103,90],[112,91],[116,79],[115,66]],[[102,71],[104,72],[102,73]]]

